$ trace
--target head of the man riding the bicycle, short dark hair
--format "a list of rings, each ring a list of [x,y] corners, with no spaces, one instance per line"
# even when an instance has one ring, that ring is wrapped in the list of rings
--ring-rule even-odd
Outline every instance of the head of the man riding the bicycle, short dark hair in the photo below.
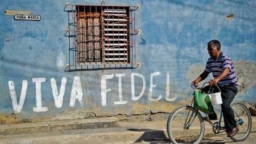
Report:
[[[208,42],[208,53],[211,58],[217,59],[221,52],[221,44],[218,40],[211,40]]]

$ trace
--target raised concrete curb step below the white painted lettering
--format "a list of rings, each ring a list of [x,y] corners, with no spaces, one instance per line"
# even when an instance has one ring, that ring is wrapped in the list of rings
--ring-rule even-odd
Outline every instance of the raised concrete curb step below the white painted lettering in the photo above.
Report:
[[[98,119],[76,119],[24,124],[6,124],[0,125],[0,135],[49,132],[54,130],[99,129],[117,127],[117,122],[118,119],[115,117],[107,117]]]

